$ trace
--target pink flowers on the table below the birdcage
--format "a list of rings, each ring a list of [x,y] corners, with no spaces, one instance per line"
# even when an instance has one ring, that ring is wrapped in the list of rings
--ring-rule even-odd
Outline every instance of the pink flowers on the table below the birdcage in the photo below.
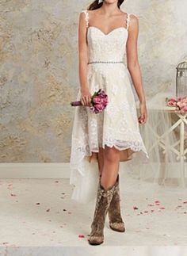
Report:
[[[177,113],[187,113],[187,97],[166,98],[167,105],[175,107]]]

